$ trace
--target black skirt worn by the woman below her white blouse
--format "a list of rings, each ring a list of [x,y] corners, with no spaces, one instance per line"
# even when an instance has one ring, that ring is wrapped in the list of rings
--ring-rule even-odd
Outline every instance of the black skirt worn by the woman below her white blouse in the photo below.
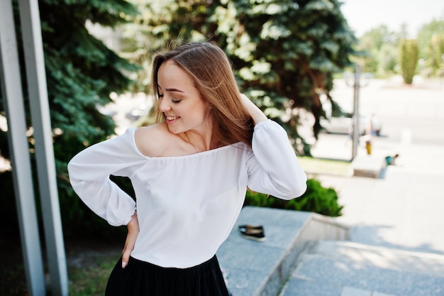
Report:
[[[118,261],[105,296],[228,296],[216,256],[192,268],[163,268],[130,257]]]

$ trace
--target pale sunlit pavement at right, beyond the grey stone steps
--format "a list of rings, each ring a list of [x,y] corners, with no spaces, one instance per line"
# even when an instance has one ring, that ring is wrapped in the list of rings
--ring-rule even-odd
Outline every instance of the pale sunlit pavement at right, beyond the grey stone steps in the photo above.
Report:
[[[444,148],[381,140],[374,153],[382,150],[400,154],[384,179],[317,176],[338,191],[338,222],[352,227],[357,243],[444,253]]]

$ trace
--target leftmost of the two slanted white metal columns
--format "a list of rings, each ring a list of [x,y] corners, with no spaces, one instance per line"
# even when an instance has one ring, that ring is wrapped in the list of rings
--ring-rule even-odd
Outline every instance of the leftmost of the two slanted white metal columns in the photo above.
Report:
[[[8,119],[13,185],[26,283],[30,295],[46,295],[11,0],[0,1],[0,51],[1,89]]]

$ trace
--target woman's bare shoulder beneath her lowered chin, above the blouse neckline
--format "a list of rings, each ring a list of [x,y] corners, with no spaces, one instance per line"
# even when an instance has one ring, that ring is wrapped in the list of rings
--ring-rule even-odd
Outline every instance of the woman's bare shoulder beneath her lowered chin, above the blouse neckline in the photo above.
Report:
[[[174,138],[176,136],[168,130],[165,122],[137,128],[134,133],[135,145],[148,157],[165,156]]]

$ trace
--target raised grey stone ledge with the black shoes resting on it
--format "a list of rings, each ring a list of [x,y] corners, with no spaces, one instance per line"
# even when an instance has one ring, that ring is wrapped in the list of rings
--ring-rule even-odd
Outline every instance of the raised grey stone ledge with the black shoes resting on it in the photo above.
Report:
[[[241,224],[264,226],[266,241],[240,236]],[[348,239],[348,228],[311,212],[244,207],[216,255],[233,296],[276,296],[307,243],[320,239]]]

